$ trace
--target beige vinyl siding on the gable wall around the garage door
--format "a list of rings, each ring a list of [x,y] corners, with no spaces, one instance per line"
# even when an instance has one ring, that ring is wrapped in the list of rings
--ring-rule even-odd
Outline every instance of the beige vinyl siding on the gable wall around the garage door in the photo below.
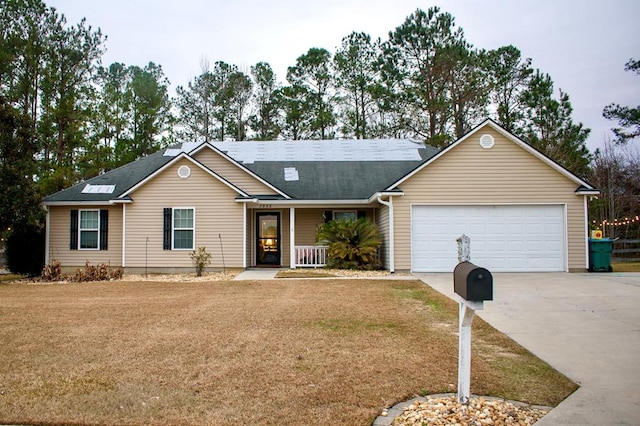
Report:
[[[492,149],[480,146],[483,134],[495,139]],[[411,268],[412,204],[566,204],[569,269],[584,270],[584,198],[577,187],[491,127],[478,129],[400,185],[405,195],[394,199],[396,269]]]

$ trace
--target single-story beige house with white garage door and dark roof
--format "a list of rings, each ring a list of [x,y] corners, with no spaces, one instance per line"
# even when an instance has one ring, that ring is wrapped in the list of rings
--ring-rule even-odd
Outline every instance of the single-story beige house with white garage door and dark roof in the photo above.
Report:
[[[598,190],[486,120],[447,148],[400,140],[183,143],[44,199],[46,262],[126,272],[325,263],[316,230],[367,217],[390,271],[585,271]]]

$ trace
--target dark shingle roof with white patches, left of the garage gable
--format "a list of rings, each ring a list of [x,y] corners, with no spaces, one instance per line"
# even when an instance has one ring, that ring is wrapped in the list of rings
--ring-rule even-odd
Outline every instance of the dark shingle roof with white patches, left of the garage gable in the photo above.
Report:
[[[294,200],[368,199],[439,152],[407,140],[219,142],[213,145]],[[44,202],[114,200],[173,160],[179,152],[192,152],[198,146],[190,143],[155,153],[52,194]],[[333,152],[327,153],[327,149]],[[345,156],[349,161],[341,161],[344,153],[348,153]],[[288,169],[287,178],[285,169]],[[115,185],[115,190],[83,193],[87,184]]]

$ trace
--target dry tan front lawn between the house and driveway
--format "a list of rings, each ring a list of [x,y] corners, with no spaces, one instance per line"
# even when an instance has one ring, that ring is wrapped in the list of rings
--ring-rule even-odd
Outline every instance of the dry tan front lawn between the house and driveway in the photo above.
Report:
[[[370,424],[455,391],[457,305],[418,281],[0,285],[0,424]],[[474,321],[472,392],[576,386]]]

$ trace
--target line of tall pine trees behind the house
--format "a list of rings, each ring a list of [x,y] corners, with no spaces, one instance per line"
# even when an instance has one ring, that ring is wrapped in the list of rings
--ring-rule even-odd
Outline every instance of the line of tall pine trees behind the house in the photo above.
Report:
[[[581,177],[589,129],[515,46],[469,43],[449,13],[416,10],[386,39],[353,32],[287,69],[203,60],[175,88],[162,66],[102,65],[107,36],[42,0],[0,2],[0,229],[41,223],[47,194],[177,141],[414,138],[444,147],[491,117]],[[615,108],[611,118],[615,118]],[[5,200],[6,199],[6,200]]]

